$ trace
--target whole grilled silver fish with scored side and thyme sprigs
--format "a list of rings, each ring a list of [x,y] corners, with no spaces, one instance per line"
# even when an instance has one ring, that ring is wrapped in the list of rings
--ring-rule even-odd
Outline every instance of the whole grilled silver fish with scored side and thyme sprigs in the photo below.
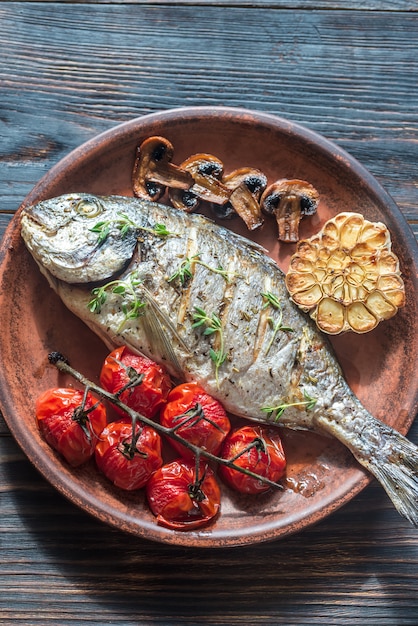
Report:
[[[27,248],[65,305],[251,420],[333,435],[418,526],[418,448],[375,419],[264,250],[201,215],[73,193],[26,208]]]

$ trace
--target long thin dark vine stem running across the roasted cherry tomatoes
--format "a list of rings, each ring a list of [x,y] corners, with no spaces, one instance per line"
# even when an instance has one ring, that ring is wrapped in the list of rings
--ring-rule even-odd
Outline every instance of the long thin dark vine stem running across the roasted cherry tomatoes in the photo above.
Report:
[[[66,359],[60,352],[51,352],[48,355],[48,360],[60,372],[69,374],[76,381],[78,381],[81,385],[83,385],[85,387],[86,393],[88,391],[92,391],[98,397],[104,400],[108,400],[109,402],[111,402],[112,404],[120,408],[122,411],[125,411],[125,413],[127,413],[132,420],[132,427],[134,431],[135,431],[135,425],[137,421],[139,420],[141,423],[146,424],[147,426],[151,426],[151,428],[154,428],[154,430],[156,430],[161,435],[172,438],[178,441],[179,443],[181,443],[183,446],[185,446],[189,450],[191,450],[191,452],[196,456],[196,467],[199,466],[199,459],[200,457],[203,456],[206,459],[213,461],[214,463],[218,463],[219,465],[225,465],[227,467],[237,470],[238,472],[241,472],[242,474],[246,474],[247,476],[250,476],[251,478],[256,478],[257,480],[261,480],[262,482],[264,482],[265,484],[271,487],[275,487],[276,489],[283,489],[283,486],[280,483],[276,483],[266,478],[265,476],[262,476],[261,474],[256,474],[255,472],[252,472],[251,470],[240,467],[239,465],[236,465],[231,459],[223,459],[222,457],[216,456],[215,454],[208,452],[204,448],[200,448],[199,446],[196,446],[195,444],[187,441],[186,439],[184,439],[183,437],[181,437],[180,435],[176,433],[176,426],[174,426],[173,428],[167,428],[165,426],[162,426],[162,424],[160,424],[159,422],[154,422],[153,420],[145,417],[144,415],[138,413],[137,411],[134,411],[133,409],[128,407],[126,404],[124,404],[116,394],[112,394],[109,391],[102,389],[101,387],[96,385],[94,382],[90,381],[88,378],[83,376],[83,374],[73,369],[70,366],[68,359]],[[245,450],[243,452],[245,452]]]

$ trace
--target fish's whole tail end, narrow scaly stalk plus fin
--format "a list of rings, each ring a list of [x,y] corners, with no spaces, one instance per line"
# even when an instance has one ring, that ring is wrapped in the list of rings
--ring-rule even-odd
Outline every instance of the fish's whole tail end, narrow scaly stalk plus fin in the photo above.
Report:
[[[418,447],[365,409],[350,420],[319,421],[373,474],[400,515],[418,527]]]

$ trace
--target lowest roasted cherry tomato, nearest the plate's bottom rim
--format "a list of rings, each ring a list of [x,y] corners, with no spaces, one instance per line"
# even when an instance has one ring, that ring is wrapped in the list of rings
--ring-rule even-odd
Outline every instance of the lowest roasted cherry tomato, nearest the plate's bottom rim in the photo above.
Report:
[[[147,483],[146,493],[158,523],[174,530],[192,530],[218,513],[221,492],[213,471],[205,463],[196,477],[194,461],[179,459],[163,465]]]

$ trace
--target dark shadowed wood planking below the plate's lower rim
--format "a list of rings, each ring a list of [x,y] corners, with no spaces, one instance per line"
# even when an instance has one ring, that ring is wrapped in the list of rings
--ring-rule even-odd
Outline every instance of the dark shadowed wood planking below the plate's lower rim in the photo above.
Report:
[[[416,532],[375,484],[300,535],[198,551],[98,523],[8,438],[0,458],[0,623],[412,626],[418,614]]]

